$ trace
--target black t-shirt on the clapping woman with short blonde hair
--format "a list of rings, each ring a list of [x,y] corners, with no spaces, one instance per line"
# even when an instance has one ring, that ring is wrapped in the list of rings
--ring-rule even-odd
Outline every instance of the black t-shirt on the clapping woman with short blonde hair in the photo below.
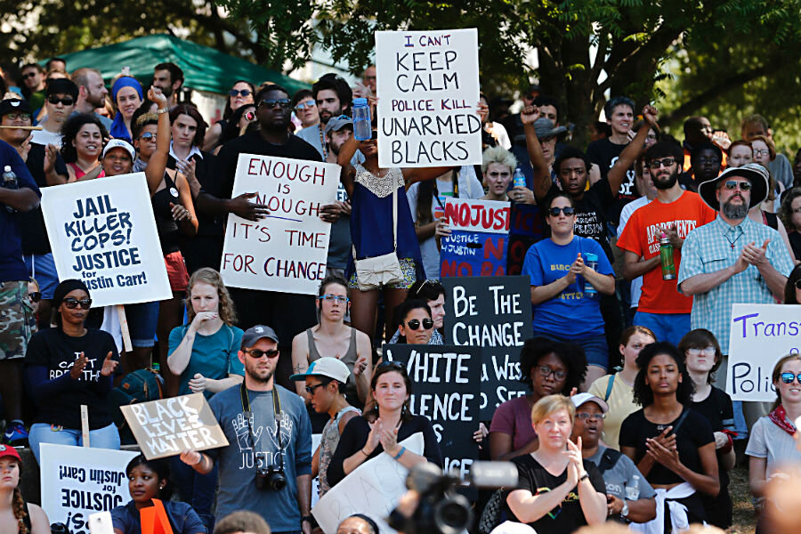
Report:
[[[513,458],[514,465],[517,465],[517,489],[529,490],[531,495],[537,496],[542,493],[554,490],[567,480],[567,468],[561,474],[554,476],[548,473],[537,460],[530,454]],[[606,495],[606,484],[603,476],[592,462],[584,460],[584,469],[589,475],[595,491]],[[509,517],[516,522],[517,519],[509,506],[506,505]],[[537,534],[570,534],[587,524],[584,512],[581,510],[581,503],[578,502],[578,486],[570,490],[567,497],[562,500],[562,506],[556,506],[553,510],[543,515],[535,522],[528,523],[531,528],[537,530]]]

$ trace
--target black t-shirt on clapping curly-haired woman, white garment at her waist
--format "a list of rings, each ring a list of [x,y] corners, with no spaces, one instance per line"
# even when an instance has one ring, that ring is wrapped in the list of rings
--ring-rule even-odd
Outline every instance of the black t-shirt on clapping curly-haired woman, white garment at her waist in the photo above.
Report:
[[[685,413],[686,416],[681,425],[677,425]],[[645,449],[645,440],[655,438],[665,430],[665,427],[671,425],[673,426],[672,433],[676,434],[676,449],[678,449],[679,459],[682,464],[695,473],[703,473],[698,449],[708,443],[715,442],[715,436],[712,434],[712,427],[709,426],[707,419],[694,409],[684,408],[682,415],[676,417],[675,421],[667,425],[651,423],[645,418],[643,409],[638,409],[626,417],[623,425],[620,425],[620,447],[634,447],[636,449],[635,464],[639,464],[647,450]],[[664,465],[659,464],[659,462],[654,463],[653,467],[651,467],[651,473],[648,473],[645,478],[651,484],[684,482],[682,477],[670,471]]]

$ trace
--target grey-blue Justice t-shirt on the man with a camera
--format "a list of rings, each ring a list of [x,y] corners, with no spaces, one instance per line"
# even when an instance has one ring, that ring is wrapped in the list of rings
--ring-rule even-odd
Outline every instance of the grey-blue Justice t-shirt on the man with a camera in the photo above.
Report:
[[[301,530],[301,513],[297,504],[296,477],[312,474],[312,424],[303,400],[279,385],[281,405],[281,444],[283,446],[284,490],[258,490],[255,486],[254,447],[242,408],[239,385],[219,392],[209,405],[228,439],[228,447],[206,450],[220,468],[220,489],[215,514],[223,517],[237,510],[260,514],[274,532]],[[279,440],[276,437],[272,392],[248,390],[255,450],[259,464],[279,465]],[[264,465],[266,462],[266,465]]]

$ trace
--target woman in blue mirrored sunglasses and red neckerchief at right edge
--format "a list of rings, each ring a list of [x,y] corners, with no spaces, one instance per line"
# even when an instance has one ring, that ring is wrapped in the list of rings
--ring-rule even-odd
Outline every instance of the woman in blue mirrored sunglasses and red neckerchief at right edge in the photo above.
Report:
[[[763,510],[756,532],[780,531],[768,528],[765,516],[790,513],[789,510],[769,509],[773,504],[765,499],[765,490],[770,481],[801,474],[798,467],[801,452],[793,437],[797,433],[797,419],[801,417],[801,356],[788,354],[781,358],[773,368],[772,377],[776,388],[773,411],[756,421],[746,448],[750,457],[748,486]]]

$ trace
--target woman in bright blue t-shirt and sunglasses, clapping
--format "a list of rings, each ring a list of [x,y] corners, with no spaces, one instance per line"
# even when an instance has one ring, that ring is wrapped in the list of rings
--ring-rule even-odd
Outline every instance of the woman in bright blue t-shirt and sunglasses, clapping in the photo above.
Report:
[[[581,345],[587,354],[587,376],[581,385],[586,391],[606,374],[609,362],[598,294],[614,293],[614,274],[597,241],[573,234],[572,198],[558,193],[547,206],[551,237],[529,248],[522,269],[531,279],[534,335]],[[588,259],[595,261],[595,268]]]

